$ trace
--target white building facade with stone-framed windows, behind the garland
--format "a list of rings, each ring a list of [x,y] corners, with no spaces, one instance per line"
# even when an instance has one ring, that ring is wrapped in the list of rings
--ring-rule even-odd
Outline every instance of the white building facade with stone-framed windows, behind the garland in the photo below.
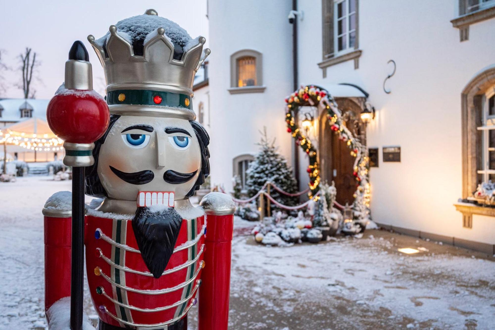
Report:
[[[294,160],[284,121],[293,92],[292,6],[208,1],[212,184],[232,188],[263,126]],[[299,85],[327,89],[354,116],[356,135],[377,149],[373,220],[494,254],[495,208],[476,203],[473,193],[495,179],[495,1],[299,0],[297,11]],[[368,124],[359,119],[365,101],[375,108]],[[350,176],[340,141],[315,122],[322,179]],[[400,147],[400,161],[384,162],[388,147]],[[299,156],[304,189],[307,160]]]

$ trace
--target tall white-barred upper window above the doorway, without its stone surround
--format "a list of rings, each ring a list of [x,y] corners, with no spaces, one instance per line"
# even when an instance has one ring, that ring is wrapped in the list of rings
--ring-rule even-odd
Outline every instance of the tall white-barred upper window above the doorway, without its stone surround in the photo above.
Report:
[[[336,53],[354,49],[356,44],[356,0],[335,1],[334,15]]]

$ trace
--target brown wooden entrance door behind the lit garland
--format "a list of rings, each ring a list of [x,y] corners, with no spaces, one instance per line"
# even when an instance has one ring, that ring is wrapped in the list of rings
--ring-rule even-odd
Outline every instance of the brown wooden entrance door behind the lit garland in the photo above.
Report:
[[[361,98],[336,98],[339,109],[342,111],[342,119],[353,136],[359,139],[363,145],[365,140],[365,127],[360,119],[360,113],[364,106]],[[337,202],[345,205],[352,204],[356,191],[356,180],[353,175],[355,158],[349,153],[347,142],[339,139],[339,135],[332,131],[326,113],[319,116],[319,149],[320,168],[322,179],[329,183],[334,181],[337,188]]]

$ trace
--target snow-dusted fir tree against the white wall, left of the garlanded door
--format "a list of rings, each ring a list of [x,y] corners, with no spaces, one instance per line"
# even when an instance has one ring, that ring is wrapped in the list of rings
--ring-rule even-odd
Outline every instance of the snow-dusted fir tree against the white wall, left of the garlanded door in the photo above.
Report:
[[[247,169],[246,189],[248,196],[255,195],[265,184],[270,181],[288,193],[297,192],[297,182],[292,174],[292,169],[287,161],[277,152],[275,139],[270,141],[266,136],[266,127],[261,134],[260,152]],[[272,189],[270,195],[279,203],[294,206],[297,204],[296,197],[280,194]]]

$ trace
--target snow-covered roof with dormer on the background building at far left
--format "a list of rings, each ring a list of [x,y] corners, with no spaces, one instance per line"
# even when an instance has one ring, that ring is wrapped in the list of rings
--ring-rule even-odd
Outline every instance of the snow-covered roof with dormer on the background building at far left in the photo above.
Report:
[[[23,98],[4,98],[0,99],[1,111],[0,122],[19,122],[21,118],[20,109],[33,110],[34,118],[47,120],[47,107],[49,100],[23,99]]]

